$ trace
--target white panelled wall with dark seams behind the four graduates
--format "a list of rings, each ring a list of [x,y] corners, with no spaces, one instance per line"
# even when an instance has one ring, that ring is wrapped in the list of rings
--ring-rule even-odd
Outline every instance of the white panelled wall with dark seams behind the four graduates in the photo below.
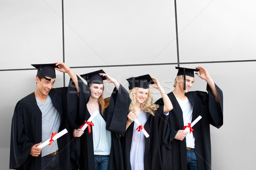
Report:
[[[245,0],[177,1],[180,62],[256,59],[253,16]],[[0,1],[0,70],[62,61],[61,1]],[[68,66],[177,63],[174,1],[64,1]],[[224,125],[211,128],[212,170],[253,169],[256,62],[181,64],[205,67],[224,93]],[[150,74],[173,90],[175,65],[73,69],[77,75],[103,69],[128,89],[126,78]],[[11,120],[18,100],[35,90],[36,70],[0,71],[0,169],[9,167]],[[63,86],[56,72],[55,87]],[[206,90],[196,76],[192,90]],[[65,77],[65,84],[69,81]],[[105,84],[104,96],[113,84]],[[154,90],[154,101],[160,98]]]

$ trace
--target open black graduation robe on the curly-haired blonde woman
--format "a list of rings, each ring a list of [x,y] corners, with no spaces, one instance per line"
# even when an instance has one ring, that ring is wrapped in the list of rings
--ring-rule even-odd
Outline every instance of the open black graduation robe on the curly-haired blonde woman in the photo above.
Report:
[[[154,116],[148,113],[148,120],[144,128],[149,134],[145,138],[145,153],[144,153],[144,170],[172,170],[170,161],[172,161],[171,150],[163,142],[166,131],[169,130],[169,116],[163,114],[163,106],[160,106]],[[134,129],[134,122],[125,131],[125,135],[121,137],[122,154],[124,159],[125,170],[131,170],[130,151]],[[141,133],[141,132],[136,132]]]

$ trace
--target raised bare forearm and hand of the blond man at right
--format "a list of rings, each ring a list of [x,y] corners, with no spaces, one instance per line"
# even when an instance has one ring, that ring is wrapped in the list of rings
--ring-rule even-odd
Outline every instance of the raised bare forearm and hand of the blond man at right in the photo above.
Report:
[[[195,69],[199,69],[199,73],[197,72],[195,74],[198,75],[201,79],[203,79],[207,82],[207,84],[210,86],[210,88],[212,90],[212,94],[214,95],[215,101],[217,103],[220,103],[218,93],[217,93],[217,89],[215,87],[215,83],[212,80],[212,78],[210,77],[207,70],[204,69],[204,67],[201,67],[201,66],[195,67]]]

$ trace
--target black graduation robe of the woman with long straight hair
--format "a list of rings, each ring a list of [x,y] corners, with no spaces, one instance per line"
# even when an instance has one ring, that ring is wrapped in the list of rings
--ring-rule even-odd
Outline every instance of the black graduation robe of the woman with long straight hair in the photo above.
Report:
[[[84,104],[79,106],[79,111],[74,108],[71,112],[73,122],[77,125],[74,129],[78,129],[84,124],[84,120],[90,118],[90,113],[86,107],[86,104],[90,99],[90,89],[85,84],[83,88],[84,89],[79,92],[79,100],[84,100]],[[128,92],[120,84],[118,91],[114,88],[109,106],[105,108],[104,114],[101,114],[102,118],[107,123],[106,129],[111,131],[111,152],[108,170],[123,170],[122,149],[119,135],[124,135],[125,133],[127,114],[130,105],[128,102],[129,100],[130,97]],[[71,107],[72,106],[70,106],[70,108]],[[101,105],[99,106],[99,109],[101,110]],[[81,114],[78,115],[78,112]],[[96,124],[94,126],[96,126]],[[88,128],[86,128],[84,134],[81,135],[81,137],[76,138],[76,148],[80,150],[80,152],[77,153],[80,165],[79,170],[94,170],[93,128],[91,128],[90,134]]]

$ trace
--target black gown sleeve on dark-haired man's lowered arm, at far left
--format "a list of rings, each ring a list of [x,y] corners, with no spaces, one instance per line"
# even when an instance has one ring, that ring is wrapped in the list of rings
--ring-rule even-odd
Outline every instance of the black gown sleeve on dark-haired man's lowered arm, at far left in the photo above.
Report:
[[[29,161],[29,153],[33,143],[24,133],[24,119],[22,102],[16,104],[12,117],[11,146],[10,146],[10,169],[16,169]]]

